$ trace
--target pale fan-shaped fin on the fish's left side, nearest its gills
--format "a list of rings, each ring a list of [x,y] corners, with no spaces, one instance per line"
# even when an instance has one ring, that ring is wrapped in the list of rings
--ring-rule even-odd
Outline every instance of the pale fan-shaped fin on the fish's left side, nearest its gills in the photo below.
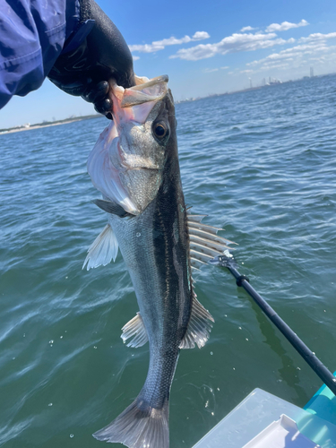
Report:
[[[82,269],[84,269],[85,264],[87,264],[87,271],[100,265],[106,266],[112,258],[115,262],[117,253],[118,243],[116,236],[108,224],[89,247]]]

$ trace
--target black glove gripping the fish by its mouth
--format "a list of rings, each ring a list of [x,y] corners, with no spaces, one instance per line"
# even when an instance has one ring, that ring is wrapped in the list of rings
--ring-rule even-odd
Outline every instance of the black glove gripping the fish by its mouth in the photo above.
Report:
[[[82,96],[94,104],[97,112],[112,118],[108,113],[112,108],[107,98],[108,80],[114,78],[125,88],[134,86],[133,57],[116,25],[94,0],[80,0],[80,6],[78,28],[88,21],[94,21],[93,27],[79,47],[71,48],[73,36],[65,42],[63,53],[47,76],[59,89]]]

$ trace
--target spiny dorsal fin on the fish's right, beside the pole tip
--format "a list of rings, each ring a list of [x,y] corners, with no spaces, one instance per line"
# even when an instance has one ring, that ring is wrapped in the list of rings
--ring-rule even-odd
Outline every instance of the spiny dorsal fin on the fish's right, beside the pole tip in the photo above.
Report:
[[[232,249],[229,244],[236,244],[217,235],[222,228],[202,224],[201,221],[205,216],[187,214],[192,268],[200,269],[202,264],[207,264],[215,256],[223,254],[226,249]]]

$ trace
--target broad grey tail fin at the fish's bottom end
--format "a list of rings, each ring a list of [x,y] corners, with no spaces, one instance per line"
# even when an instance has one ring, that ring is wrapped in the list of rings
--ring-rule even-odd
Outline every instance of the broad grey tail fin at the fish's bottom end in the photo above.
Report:
[[[142,403],[136,399],[112,423],[93,436],[97,440],[125,444],[129,448],[169,448],[168,401],[163,409],[141,409]]]

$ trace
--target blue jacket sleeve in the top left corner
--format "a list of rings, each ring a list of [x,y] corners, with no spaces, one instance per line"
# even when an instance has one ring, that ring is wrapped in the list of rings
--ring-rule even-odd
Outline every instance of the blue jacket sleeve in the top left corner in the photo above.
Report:
[[[39,88],[79,21],[79,0],[0,0],[0,108]]]

